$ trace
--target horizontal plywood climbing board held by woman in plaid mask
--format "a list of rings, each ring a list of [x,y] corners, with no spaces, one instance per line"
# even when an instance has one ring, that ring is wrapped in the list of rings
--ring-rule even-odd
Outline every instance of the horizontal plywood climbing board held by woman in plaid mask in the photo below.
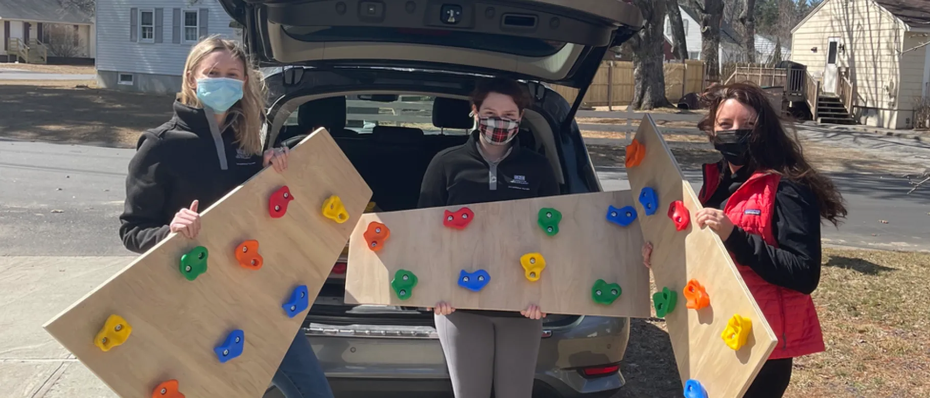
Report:
[[[632,204],[615,191],[364,214],[345,302],[648,317]]]

